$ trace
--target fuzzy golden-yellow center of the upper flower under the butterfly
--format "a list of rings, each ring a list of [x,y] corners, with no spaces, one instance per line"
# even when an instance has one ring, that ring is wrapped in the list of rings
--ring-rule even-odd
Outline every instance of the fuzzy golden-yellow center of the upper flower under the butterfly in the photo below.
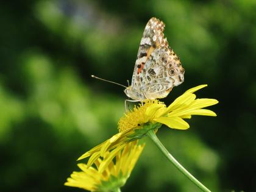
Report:
[[[142,104],[139,104],[138,106],[135,105],[133,110],[125,113],[125,115],[120,118],[118,122],[119,132],[141,126],[142,124],[150,121],[151,118],[146,115],[146,110],[152,105],[161,105],[161,107],[166,107],[163,102],[160,102],[157,99],[147,99]]]

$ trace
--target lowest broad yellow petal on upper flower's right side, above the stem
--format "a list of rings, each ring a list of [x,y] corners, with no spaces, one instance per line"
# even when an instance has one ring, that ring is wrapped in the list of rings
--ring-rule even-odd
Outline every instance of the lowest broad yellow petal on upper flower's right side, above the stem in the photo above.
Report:
[[[182,118],[179,118],[177,116],[174,117],[160,117],[157,119],[154,119],[154,121],[158,123],[165,124],[166,126],[172,128],[172,129],[188,129],[190,125],[184,121]]]

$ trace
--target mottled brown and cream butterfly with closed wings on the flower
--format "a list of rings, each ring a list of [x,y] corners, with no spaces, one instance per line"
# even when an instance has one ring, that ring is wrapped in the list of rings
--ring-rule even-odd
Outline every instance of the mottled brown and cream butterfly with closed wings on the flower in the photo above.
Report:
[[[182,84],[185,69],[164,37],[165,24],[151,18],[140,41],[132,84],[124,93],[132,101],[165,98],[172,87]],[[129,101],[129,100],[128,100]]]

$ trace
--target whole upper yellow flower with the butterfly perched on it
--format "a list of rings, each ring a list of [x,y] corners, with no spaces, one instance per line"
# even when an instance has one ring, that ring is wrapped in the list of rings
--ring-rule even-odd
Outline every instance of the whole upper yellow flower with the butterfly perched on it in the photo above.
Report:
[[[109,151],[109,157],[104,159],[99,168],[99,172],[101,172],[102,167],[108,166],[108,163],[127,143],[144,137],[149,130],[157,130],[162,124],[173,129],[184,130],[190,126],[183,119],[191,118],[191,115],[216,116],[216,113],[204,108],[217,104],[216,99],[196,99],[194,92],[204,87],[207,85],[199,85],[187,90],[168,107],[158,100],[144,101],[143,104],[134,107],[119,120],[119,133],[86,152],[78,160],[90,157],[87,163],[87,167],[90,167],[95,160],[103,157],[105,152]]]

